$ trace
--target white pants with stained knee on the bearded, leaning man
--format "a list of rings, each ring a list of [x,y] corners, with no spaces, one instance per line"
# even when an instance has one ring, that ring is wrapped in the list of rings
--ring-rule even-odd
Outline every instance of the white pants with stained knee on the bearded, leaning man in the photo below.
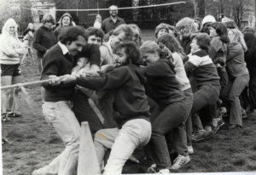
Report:
[[[125,161],[137,147],[148,144],[150,137],[151,123],[144,119],[126,121],[121,129],[99,130],[95,135],[94,144],[101,167],[105,151],[111,148],[103,174],[121,174]]]

